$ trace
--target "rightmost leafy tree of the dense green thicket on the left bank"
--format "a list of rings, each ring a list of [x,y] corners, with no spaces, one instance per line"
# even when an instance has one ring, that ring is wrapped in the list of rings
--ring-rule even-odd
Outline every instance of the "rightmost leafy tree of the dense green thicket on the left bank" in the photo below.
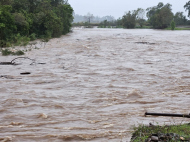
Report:
[[[35,14],[33,14],[34,23],[30,33],[50,38],[59,37],[70,32],[73,20],[72,7],[69,4],[65,4],[65,1],[51,2],[38,2]]]

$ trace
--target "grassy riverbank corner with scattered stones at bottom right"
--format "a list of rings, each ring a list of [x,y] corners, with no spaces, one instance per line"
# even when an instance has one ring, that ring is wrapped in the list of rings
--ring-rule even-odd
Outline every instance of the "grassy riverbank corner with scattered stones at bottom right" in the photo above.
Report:
[[[150,125],[134,128],[135,132],[131,138],[131,142],[150,141],[151,137],[162,141],[190,141],[190,124],[181,125]]]

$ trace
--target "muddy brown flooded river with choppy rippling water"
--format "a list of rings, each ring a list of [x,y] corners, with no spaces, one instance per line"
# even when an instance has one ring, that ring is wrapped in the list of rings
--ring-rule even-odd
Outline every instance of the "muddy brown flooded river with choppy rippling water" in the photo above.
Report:
[[[189,122],[144,117],[190,113],[189,39],[189,31],[76,28],[26,52],[32,64],[0,65],[0,141],[129,142],[134,125]]]

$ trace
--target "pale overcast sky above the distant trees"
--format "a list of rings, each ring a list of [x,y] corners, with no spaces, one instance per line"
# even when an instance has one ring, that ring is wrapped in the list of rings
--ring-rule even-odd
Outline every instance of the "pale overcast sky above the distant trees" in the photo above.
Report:
[[[111,15],[115,18],[122,17],[129,10],[137,8],[146,9],[156,6],[159,2],[170,3],[174,13],[182,11],[185,14],[183,6],[189,0],[68,0],[73,7],[75,14],[86,15],[88,12],[94,16]]]

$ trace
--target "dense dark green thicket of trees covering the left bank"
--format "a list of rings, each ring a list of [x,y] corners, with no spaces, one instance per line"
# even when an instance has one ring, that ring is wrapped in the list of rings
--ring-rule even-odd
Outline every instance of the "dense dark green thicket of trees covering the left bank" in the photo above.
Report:
[[[0,0],[0,47],[66,34],[72,14],[64,0]]]

